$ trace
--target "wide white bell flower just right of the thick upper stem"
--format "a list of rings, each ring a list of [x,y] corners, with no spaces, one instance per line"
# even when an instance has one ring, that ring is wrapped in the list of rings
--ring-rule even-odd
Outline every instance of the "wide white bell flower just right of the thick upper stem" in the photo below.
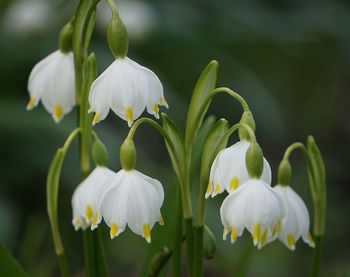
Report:
[[[129,127],[146,106],[148,113],[156,118],[158,106],[167,107],[158,77],[128,57],[117,58],[92,83],[89,103],[90,112],[95,112],[93,125],[105,119],[112,109]]]

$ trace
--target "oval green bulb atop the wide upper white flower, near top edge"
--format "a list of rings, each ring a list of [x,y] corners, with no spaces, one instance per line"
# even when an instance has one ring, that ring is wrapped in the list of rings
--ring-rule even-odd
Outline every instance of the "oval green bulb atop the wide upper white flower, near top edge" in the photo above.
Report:
[[[129,49],[128,32],[119,15],[112,16],[108,23],[107,40],[115,58],[126,57]]]

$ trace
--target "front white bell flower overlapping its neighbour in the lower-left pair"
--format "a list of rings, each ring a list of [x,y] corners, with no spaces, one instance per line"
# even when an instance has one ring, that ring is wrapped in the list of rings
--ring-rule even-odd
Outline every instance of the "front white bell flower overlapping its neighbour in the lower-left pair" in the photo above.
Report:
[[[164,200],[161,183],[137,170],[120,170],[112,180],[112,188],[102,200],[102,216],[113,239],[126,224],[136,234],[151,242],[155,222],[163,224],[160,208]]]

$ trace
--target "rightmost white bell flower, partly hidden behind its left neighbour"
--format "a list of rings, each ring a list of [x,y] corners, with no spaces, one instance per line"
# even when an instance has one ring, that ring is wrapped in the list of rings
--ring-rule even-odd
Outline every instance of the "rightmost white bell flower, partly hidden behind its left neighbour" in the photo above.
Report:
[[[286,210],[279,239],[290,250],[295,249],[295,243],[300,236],[310,247],[314,247],[315,243],[309,231],[310,216],[304,201],[289,186],[277,185],[274,189],[284,201]]]

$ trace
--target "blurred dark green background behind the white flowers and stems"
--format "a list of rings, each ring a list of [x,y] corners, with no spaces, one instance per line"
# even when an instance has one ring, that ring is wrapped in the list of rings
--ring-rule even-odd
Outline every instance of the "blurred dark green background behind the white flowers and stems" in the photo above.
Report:
[[[75,113],[56,125],[39,105],[32,112],[27,79],[32,67],[57,48],[57,34],[77,1],[0,2],[0,241],[32,276],[58,276],[45,204],[45,179],[57,147],[75,126]],[[174,121],[184,127],[195,82],[212,59],[218,85],[239,92],[250,104],[257,137],[273,172],[284,149],[313,134],[327,167],[328,207],[321,276],[350,274],[350,3],[349,1],[118,1],[130,34],[129,56],[161,79]],[[112,61],[106,42],[110,13],[98,6],[90,50],[99,72]],[[209,110],[231,123],[240,106],[217,97]],[[119,146],[128,132],[115,114],[96,126],[119,170]],[[171,245],[177,185],[164,143],[150,128],[136,136],[138,169],[159,179],[166,197],[165,226],[156,226],[152,244],[130,230],[110,241],[103,228],[111,276],[144,274],[147,261]],[[232,140],[234,142],[234,140]],[[295,190],[311,208],[302,155],[292,158]],[[60,187],[60,225],[74,276],[84,276],[82,236],[71,226],[70,199],[79,183],[77,145],[70,151]],[[275,182],[274,174],[274,182]],[[193,180],[193,194],[198,189]],[[207,201],[207,224],[217,237],[217,253],[205,262],[206,276],[233,276],[250,253],[248,276],[306,276],[311,250],[302,242],[290,252],[276,241],[251,251],[248,234],[236,244],[221,240],[219,207],[223,195]],[[310,210],[312,217],[312,210]],[[104,225],[104,224],[102,224]],[[164,273],[169,273],[170,270]]]

